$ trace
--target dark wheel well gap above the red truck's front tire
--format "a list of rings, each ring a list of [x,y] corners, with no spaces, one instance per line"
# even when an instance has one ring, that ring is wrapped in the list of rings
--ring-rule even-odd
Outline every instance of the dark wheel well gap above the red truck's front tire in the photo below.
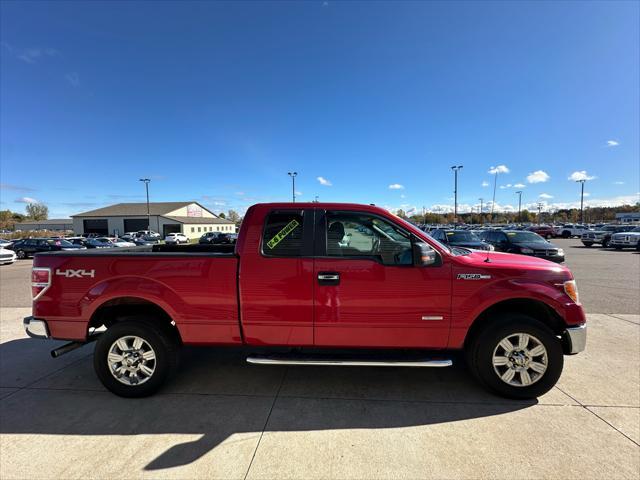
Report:
[[[547,325],[556,335],[562,334],[566,329],[566,325],[562,318],[547,304],[538,300],[529,298],[515,298],[504,300],[491,305],[483,311],[471,324],[471,328],[464,339],[465,348],[473,341],[473,339],[486,327],[496,314],[517,312],[529,315],[536,320]]]

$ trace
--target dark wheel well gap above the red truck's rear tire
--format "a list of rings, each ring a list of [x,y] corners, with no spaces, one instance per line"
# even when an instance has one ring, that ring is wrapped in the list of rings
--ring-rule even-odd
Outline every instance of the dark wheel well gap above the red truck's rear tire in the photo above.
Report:
[[[178,344],[182,344],[180,332],[171,316],[155,303],[137,297],[114,298],[100,305],[89,320],[87,336],[91,330],[109,328],[132,317],[151,320],[153,325],[157,325]]]

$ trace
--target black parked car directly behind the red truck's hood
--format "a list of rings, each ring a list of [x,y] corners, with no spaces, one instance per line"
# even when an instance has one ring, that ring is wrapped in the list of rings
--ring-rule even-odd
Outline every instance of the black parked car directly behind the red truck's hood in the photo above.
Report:
[[[498,252],[519,253],[556,263],[564,262],[564,250],[537,233],[526,230],[493,230],[483,232],[482,239],[492,244]]]

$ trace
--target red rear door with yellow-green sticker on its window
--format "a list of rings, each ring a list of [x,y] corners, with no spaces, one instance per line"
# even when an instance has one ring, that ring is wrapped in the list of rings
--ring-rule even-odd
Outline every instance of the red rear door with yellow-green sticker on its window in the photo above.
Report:
[[[278,209],[247,230],[239,282],[248,344],[313,345],[313,219],[313,209]]]

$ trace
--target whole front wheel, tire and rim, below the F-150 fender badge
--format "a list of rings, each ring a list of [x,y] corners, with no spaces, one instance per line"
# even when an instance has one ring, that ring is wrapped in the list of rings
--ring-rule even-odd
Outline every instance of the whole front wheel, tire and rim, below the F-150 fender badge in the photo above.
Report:
[[[496,318],[469,346],[469,367],[489,390],[508,398],[547,393],[562,373],[560,340],[546,325],[521,314]]]

